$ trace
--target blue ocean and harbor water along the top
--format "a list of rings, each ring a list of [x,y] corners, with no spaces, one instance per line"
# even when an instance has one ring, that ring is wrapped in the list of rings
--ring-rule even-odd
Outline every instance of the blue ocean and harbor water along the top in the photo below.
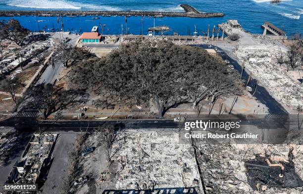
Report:
[[[156,18],[155,25],[166,25],[171,28],[167,34],[178,32],[191,34],[198,28],[198,33],[210,26],[236,19],[245,30],[261,34],[261,24],[269,21],[286,31],[287,35],[303,33],[303,0],[282,0],[271,4],[270,0],[0,0],[0,10],[141,10],[141,11],[180,11],[180,4],[190,4],[201,12],[224,12],[224,17],[218,18]],[[0,17],[9,19],[11,17]],[[42,28],[56,28],[56,17],[15,16],[22,25],[33,31],[38,31],[38,23]],[[64,30],[78,32],[90,31],[94,25],[103,25],[104,34],[121,34],[121,25],[125,29],[124,17],[100,17],[92,20],[91,16],[63,17]],[[144,17],[144,34],[153,26],[153,17]],[[127,20],[129,33],[141,34],[141,16],[129,17]],[[124,30],[125,31],[125,30]]]

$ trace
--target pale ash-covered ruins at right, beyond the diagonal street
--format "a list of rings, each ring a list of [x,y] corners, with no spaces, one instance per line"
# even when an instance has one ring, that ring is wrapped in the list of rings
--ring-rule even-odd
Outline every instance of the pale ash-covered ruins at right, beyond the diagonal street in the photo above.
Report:
[[[296,110],[303,104],[303,87],[291,71],[287,72],[278,64],[276,57],[279,51],[286,58],[287,49],[278,46],[240,46],[235,54],[259,85],[266,86],[269,94],[280,104]]]

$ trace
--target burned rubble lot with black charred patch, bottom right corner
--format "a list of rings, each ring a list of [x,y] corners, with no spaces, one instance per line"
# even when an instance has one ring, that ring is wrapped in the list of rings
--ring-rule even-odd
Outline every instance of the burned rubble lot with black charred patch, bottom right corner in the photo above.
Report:
[[[298,145],[218,144],[209,140],[196,145],[206,194],[303,191],[303,148]]]

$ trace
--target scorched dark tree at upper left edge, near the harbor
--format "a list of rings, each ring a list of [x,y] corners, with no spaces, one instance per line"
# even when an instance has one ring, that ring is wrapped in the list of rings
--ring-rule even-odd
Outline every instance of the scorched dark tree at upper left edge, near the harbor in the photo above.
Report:
[[[0,37],[12,41],[18,46],[24,45],[24,39],[29,34],[29,30],[23,28],[18,20],[11,19],[7,23],[0,22]]]

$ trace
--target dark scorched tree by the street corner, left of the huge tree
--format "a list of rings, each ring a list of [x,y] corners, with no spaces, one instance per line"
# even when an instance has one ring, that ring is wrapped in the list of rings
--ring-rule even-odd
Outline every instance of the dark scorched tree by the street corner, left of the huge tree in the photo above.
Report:
[[[87,102],[88,94],[81,90],[64,90],[52,85],[37,85],[28,90],[27,101],[30,107],[42,112],[44,119],[59,110],[66,110]]]

